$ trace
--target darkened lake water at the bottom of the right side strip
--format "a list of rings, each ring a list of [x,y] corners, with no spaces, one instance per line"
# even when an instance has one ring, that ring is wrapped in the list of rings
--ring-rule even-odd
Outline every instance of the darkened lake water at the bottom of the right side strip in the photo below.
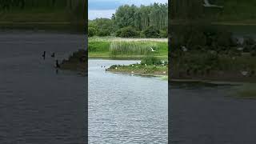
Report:
[[[256,101],[234,98],[235,90],[231,85],[170,82],[170,142],[256,143]]]

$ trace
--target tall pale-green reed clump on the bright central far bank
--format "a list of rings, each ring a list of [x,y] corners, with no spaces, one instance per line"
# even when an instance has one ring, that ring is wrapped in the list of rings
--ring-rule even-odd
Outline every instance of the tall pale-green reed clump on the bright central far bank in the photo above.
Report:
[[[151,51],[156,50],[154,52]],[[114,41],[110,44],[110,55],[149,55],[157,53],[158,45],[155,42],[143,41]]]

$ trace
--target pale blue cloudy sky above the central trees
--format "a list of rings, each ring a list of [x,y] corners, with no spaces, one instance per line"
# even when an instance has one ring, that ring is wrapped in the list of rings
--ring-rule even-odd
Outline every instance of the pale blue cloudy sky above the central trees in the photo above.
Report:
[[[167,3],[168,0],[89,0],[88,18],[111,18],[118,6],[125,4],[150,5],[154,2]]]

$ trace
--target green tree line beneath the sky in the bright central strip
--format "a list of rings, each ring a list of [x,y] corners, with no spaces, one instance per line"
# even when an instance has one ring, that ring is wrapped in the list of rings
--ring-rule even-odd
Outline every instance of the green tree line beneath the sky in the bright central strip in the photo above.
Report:
[[[168,5],[119,6],[112,18],[89,20],[88,35],[124,38],[166,38]]]

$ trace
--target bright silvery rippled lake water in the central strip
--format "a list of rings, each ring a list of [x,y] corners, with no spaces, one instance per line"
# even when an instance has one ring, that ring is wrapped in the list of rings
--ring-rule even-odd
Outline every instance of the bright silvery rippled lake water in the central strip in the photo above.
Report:
[[[167,143],[168,82],[104,68],[136,62],[89,60],[89,143]]]

